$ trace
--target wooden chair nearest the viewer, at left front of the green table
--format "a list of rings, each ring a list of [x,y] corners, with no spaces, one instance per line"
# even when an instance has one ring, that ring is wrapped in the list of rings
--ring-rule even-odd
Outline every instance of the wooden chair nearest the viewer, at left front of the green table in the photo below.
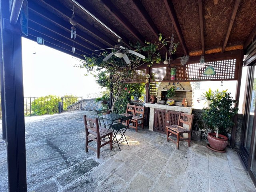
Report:
[[[106,144],[109,144],[110,150],[112,150],[113,131],[99,127],[98,118],[92,119],[84,115],[84,126],[85,126],[85,136],[86,136],[86,139],[85,139],[86,153],[88,153],[88,148],[90,148],[91,150],[96,151],[97,158],[100,158],[100,148]],[[105,137],[108,137],[109,140],[106,141]],[[104,140],[102,138],[104,138]],[[92,141],[97,142],[96,149],[88,145]]]

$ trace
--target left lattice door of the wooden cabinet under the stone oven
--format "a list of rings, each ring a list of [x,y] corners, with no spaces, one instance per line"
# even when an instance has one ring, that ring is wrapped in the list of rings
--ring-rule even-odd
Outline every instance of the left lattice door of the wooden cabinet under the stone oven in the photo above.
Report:
[[[166,133],[167,110],[155,109],[154,131]]]

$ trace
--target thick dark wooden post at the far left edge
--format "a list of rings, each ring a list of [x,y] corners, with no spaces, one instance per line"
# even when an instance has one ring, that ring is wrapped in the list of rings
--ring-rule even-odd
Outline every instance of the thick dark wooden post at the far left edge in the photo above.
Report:
[[[10,24],[9,0],[1,0],[0,9],[3,64],[1,79],[4,83],[1,92],[4,92],[2,102],[5,106],[3,118],[6,126],[8,186],[9,192],[26,192],[22,44],[21,35],[17,32],[20,27]]]

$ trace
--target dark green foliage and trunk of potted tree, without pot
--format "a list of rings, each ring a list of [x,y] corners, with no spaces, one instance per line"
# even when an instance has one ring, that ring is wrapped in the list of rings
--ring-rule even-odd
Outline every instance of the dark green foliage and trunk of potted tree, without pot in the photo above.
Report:
[[[238,113],[238,107],[234,107],[234,104],[236,100],[226,92],[221,98],[213,98],[209,107],[203,108],[202,119],[213,132],[216,131],[216,138],[219,132],[226,135],[234,124],[231,118]]]

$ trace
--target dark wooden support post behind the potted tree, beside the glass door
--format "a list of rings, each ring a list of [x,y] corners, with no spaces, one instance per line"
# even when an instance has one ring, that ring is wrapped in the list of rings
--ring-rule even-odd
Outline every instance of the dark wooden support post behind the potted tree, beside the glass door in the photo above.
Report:
[[[240,87],[241,87],[241,79],[242,79],[243,59],[244,59],[244,54],[241,51],[239,61],[237,61],[238,62],[238,79],[237,79],[237,84],[236,84],[236,101],[238,102],[236,104],[237,107],[238,107],[239,99],[240,99]],[[237,115],[235,115],[233,117],[233,122],[234,122],[234,126],[232,127],[231,140],[230,140],[231,147],[235,146],[235,141],[236,141]]]

